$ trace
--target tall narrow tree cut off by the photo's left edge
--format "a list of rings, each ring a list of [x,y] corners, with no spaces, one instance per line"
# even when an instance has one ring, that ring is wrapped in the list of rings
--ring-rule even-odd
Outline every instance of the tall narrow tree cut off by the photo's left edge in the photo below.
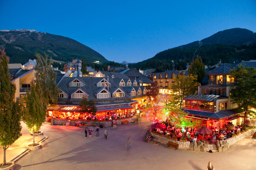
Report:
[[[6,149],[21,134],[21,106],[14,102],[16,87],[11,83],[9,59],[4,50],[0,55],[0,145],[3,147],[3,165],[6,165]]]

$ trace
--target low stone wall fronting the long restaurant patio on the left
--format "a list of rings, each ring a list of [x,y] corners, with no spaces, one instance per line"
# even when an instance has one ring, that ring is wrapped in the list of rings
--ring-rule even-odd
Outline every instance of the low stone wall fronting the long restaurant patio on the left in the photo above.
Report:
[[[121,118],[121,119],[115,119],[115,123],[116,125],[122,125],[122,121],[128,121],[129,123],[131,123],[133,120],[133,118],[135,118],[136,116],[133,117],[128,117],[128,118]],[[99,125],[100,123],[102,123],[104,125],[104,127],[110,127],[113,126],[113,121],[109,120],[109,121],[95,121],[95,120],[83,120],[83,119],[66,119],[66,121],[64,119],[52,119],[52,125],[63,125],[64,121],[67,123],[70,120],[71,122],[71,126],[74,125],[75,122],[79,122],[79,124],[96,124]],[[65,125],[66,125],[65,123]]]

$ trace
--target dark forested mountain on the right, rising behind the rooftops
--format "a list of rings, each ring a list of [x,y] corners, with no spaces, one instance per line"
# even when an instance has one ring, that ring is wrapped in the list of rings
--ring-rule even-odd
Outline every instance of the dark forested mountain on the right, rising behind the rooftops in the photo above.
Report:
[[[205,65],[218,61],[233,63],[239,60],[256,59],[256,33],[242,28],[219,31],[201,41],[157,53],[154,57],[133,65],[137,69],[156,68],[156,72],[186,69],[196,56],[201,56]]]

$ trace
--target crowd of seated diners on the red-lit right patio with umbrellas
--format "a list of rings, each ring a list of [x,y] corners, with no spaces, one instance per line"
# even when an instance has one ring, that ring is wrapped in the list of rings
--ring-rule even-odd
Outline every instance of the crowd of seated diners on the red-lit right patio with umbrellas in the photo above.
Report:
[[[164,124],[164,123],[162,123]],[[167,124],[165,128],[151,128],[151,131],[162,133],[164,136],[169,135],[172,138],[181,139],[185,138],[187,141],[195,142],[198,140],[207,140],[209,143],[216,143],[216,140],[225,140],[230,138],[233,134],[237,134],[242,131],[242,126],[234,126],[233,128],[223,127],[222,129],[211,128],[211,134],[200,134],[197,131],[197,127],[185,127],[185,128],[176,128],[175,125]]]

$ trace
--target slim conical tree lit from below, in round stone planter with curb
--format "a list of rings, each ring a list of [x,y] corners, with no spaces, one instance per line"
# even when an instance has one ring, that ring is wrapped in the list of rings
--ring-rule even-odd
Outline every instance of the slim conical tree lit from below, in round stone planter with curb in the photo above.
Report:
[[[33,132],[33,144],[35,144],[35,132],[37,133],[45,121],[46,103],[43,102],[42,88],[37,79],[36,83],[31,81],[30,92],[26,92],[26,107],[23,108],[23,122],[30,132]]]

